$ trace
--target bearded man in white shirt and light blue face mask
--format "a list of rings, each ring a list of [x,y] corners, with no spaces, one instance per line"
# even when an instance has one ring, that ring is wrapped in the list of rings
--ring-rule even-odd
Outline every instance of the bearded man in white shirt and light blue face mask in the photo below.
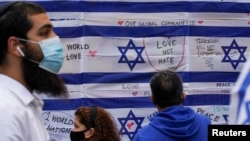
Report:
[[[57,75],[61,41],[43,7],[31,2],[0,6],[0,140],[48,141],[37,94],[66,98]]]

